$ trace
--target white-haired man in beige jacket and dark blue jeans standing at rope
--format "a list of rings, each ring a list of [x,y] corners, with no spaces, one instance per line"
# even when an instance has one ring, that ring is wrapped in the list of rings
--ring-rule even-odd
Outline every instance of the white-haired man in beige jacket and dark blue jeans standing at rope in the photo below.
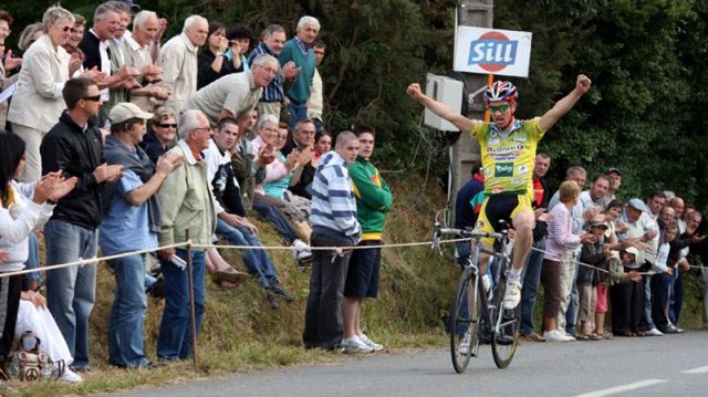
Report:
[[[188,231],[192,243],[209,244],[216,213],[207,180],[207,161],[201,155],[209,148],[211,137],[207,116],[200,111],[184,112],[179,117],[179,135],[181,139],[168,154],[184,156],[185,164],[167,177],[157,194],[162,217],[158,242],[160,247],[186,242]],[[176,257],[186,261],[187,251],[184,247],[166,248],[158,255],[165,275],[165,310],[157,338],[157,356],[165,361],[187,358],[192,354],[188,272],[175,263],[179,263]],[[191,263],[196,328],[199,333],[204,315],[204,249],[191,250]]]

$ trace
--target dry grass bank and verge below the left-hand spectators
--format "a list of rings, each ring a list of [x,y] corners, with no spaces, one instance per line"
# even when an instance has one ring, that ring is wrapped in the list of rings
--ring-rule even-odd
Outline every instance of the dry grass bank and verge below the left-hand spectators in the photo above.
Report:
[[[442,191],[418,191],[420,180],[388,180],[395,196],[385,233],[388,243],[427,241],[431,237],[435,211],[445,206]],[[258,222],[264,245],[282,244],[269,226]],[[222,254],[244,270],[239,253]],[[58,396],[111,393],[221,377],[233,373],[290,365],[326,363],[339,354],[304,351],[301,333],[310,272],[295,265],[289,251],[271,251],[281,281],[295,302],[281,301],[271,310],[256,281],[233,290],[221,290],[207,278],[207,302],[198,342],[199,366],[181,362],[152,370],[125,370],[107,364],[107,324],[115,282],[110,269],[98,264],[97,300],[91,314],[91,365],[81,385],[48,382],[10,382],[0,385],[6,396]],[[445,344],[441,318],[448,307],[459,268],[449,257],[439,257],[429,247],[384,249],[381,294],[365,306],[367,333],[396,351]],[[145,318],[145,349],[155,358],[155,347],[164,301],[148,299]]]

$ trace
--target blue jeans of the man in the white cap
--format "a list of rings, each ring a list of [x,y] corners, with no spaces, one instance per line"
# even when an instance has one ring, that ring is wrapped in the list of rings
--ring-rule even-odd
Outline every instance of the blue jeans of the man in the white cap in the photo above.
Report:
[[[115,297],[108,320],[108,361],[121,367],[137,368],[149,361],[143,349],[145,296],[145,254],[108,261],[115,273]]]

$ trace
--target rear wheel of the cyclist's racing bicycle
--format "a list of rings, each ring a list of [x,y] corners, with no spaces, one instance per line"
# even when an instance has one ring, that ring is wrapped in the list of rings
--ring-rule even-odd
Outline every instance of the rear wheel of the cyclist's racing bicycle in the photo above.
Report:
[[[498,368],[506,368],[511,363],[513,354],[517,352],[520,327],[520,304],[513,310],[503,309],[504,292],[507,291],[506,269],[502,267],[499,282],[496,285],[493,295],[493,306],[490,310],[490,318],[494,334],[491,338],[491,353]]]

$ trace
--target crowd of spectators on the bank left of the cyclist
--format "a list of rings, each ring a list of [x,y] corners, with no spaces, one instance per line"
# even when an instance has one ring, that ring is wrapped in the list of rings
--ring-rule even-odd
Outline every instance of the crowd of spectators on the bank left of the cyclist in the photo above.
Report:
[[[167,21],[131,0],[104,2],[93,15],[53,6],[41,22],[23,30],[21,58],[4,49],[12,23],[10,13],[0,11],[0,83],[13,92],[0,103],[0,272],[117,255],[106,261],[115,276],[107,361],[122,368],[152,368],[192,355],[189,295],[198,334],[207,272],[227,289],[252,278],[272,309],[279,300],[295,300],[261,248],[251,221],[259,217],[291,247],[299,265],[312,268],[312,285],[325,288],[313,289],[309,302],[322,303],[315,322],[326,324],[326,334],[312,331],[309,303],[305,345],[344,346],[348,257],[341,257],[336,278],[322,284],[317,278],[334,269],[329,263],[333,253],[313,253],[310,241],[322,245],[317,236],[339,236],[339,219],[346,218],[345,240],[357,244],[357,200],[364,200],[360,207],[367,205],[368,196],[384,189],[383,207],[365,212],[381,213],[375,234],[365,239],[381,241],[392,199],[377,171],[350,180],[346,168],[357,160],[354,134],[340,134],[337,149],[331,150],[316,72],[326,45],[315,43],[315,18],[300,19],[290,40],[283,27],[273,24],[257,41],[243,25],[190,15],[181,33],[168,39]],[[357,161],[372,173],[373,129],[365,136],[368,149]],[[339,168],[331,168],[334,164]],[[336,190],[325,181],[333,170]],[[313,184],[317,174],[319,185]],[[323,212],[329,199],[339,196],[347,197],[346,213],[339,205]],[[327,202],[311,207],[312,199]],[[214,247],[188,251],[181,244],[211,245],[221,239],[254,248],[242,251],[248,273]],[[355,311],[350,311],[356,326],[346,335],[356,342],[352,353],[382,347],[361,330],[362,301],[377,294],[381,259],[363,258],[351,268],[357,274]],[[185,271],[187,262],[191,273]],[[156,272],[164,279],[165,307],[154,363],[145,354],[143,323],[146,289],[154,286]],[[0,281],[0,362],[10,355],[15,336],[32,331],[44,341],[44,353],[66,365],[58,375],[82,382],[81,374],[91,368],[96,267],[48,270],[46,299],[39,271]]]

